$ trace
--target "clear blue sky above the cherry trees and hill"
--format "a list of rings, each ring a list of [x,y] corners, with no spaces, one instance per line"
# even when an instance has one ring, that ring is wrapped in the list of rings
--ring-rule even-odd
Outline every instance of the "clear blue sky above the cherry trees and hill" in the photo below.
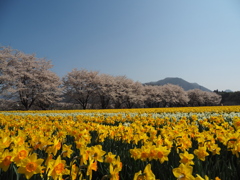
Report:
[[[0,0],[0,46],[142,83],[240,90],[239,0]]]

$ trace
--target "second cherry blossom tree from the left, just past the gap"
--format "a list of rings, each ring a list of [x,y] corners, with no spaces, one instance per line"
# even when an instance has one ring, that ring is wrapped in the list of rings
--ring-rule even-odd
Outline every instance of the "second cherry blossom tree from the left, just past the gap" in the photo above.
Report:
[[[98,72],[73,69],[63,77],[64,95],[70,101],[79,103],[86,109],[93,101],[98,89]]]

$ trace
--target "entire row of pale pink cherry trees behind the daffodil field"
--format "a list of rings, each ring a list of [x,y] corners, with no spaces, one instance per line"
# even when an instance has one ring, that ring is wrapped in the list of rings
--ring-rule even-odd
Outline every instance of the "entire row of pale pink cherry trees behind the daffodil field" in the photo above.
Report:
[[[140,108],[219,105],[221,96],[177,85],[143,85],[126,76],[73,69],[62,79],[52,64],[10,47],[0,49],[2,109]]]

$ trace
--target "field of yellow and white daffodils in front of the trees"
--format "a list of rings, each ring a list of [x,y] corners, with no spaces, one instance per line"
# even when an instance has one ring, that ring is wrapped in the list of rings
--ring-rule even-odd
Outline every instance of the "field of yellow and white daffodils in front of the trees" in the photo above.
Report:
[[[237,180],[240,106],[0,112],[3,180]]]

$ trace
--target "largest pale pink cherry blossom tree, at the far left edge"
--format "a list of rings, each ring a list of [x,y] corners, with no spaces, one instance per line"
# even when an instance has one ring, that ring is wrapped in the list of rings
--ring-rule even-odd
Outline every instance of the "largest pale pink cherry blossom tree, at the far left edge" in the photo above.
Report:
[[[0,62],[1,94],[5,98],[20,102],[26,110],[36,102],[48,107],[60,99],[61,81],[50,71],[50,61],[2,47]]]

